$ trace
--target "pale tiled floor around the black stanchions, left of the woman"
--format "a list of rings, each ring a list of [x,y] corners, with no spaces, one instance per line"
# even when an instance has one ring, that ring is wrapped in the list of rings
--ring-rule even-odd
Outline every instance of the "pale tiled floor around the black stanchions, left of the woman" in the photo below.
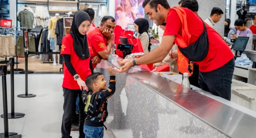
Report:
[[[63,74],[29,74],[28,92],[33,98],[19,98],[25,94],[25,75],[15,74],[15,112],[26,114],[23,118],[8,119],[9,132],[22,134],[22,138],[61,138],[63,115]],[[10,75],[7,76],[8,111],[11,111]],[[0,77],[0,114],[3,114],[3,94]],[[4,132],[3,118],[0,118],[0,133]],[[71,131],[78,138],[78,131]],[[111,131],[104,131],[104,138],[114,138]]]

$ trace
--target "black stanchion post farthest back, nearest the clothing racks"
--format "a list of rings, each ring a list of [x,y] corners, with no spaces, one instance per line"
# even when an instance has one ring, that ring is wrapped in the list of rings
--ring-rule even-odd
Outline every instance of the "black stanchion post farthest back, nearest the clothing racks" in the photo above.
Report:
[[[29,50],[25,48],[25,94],[20,94],[18,97],[20,98],[30,98],[30,97],[35,97],[36,95],[33,94],[28,94],[28,69],[27,69],[27,58],[29,56]]]

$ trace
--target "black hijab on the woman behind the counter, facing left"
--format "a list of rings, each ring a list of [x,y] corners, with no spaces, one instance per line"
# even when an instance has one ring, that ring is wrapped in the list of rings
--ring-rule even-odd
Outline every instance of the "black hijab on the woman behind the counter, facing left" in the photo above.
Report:
[[[138,19],[136,19],[136,20],[134,21],[134,23],[135,23],[136,25],[138,25],[140,35],[141,35],[142,33],[148,31],[149,24],[148,24],[148,21],[147,21],[146,19],[144,19],[144,18],[138,18]],[[148,34],[148,32],[147,32],[147,34]],[[149,35],[148,35],[148,38],[149,38],[148,50],[150,51],[150,45],[151,45],[151,44],[150,44],[150,37],[149,37]]]

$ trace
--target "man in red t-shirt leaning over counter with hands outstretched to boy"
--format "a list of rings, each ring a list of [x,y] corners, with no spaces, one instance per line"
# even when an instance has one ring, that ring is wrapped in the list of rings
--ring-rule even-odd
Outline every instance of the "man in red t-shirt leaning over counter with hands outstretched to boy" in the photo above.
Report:
[[[122,68],[115,68],[117,72],[127,72],[133,66],[140,64],[161,62],[171,50],[174,42],[191,45],[204,32],[202,19],[187,8],[170,8],[167,0],[145,0],[143,7],[149,19],[153,20],[157,26],[166,23],[163,41],[157,48],[140,58],[117,60],[120,66],[124,65]],[[181,11],[180,13],[183,13],[183,15],[178,14],[176,10]],[[181,18],[184,20],[181,21]],[[187,37],[182,36],[184,31],[182,24],[185,21],[187,21],[187,32],[189,32],[189,34],[186,34]],[[209,44],[208,53],[202,61],[195,62],[199,65],[199,84],[203,90],[230,101],[231,80],[235,66],[234,55],[229,46],[222,40],[222,37],[209,25],[206,24],[206,27]],[[180,37],[183,39],[182,42],[181,39],[177,39]],[[190,41],[188,41],[189,38]],[[180,46],[178,48],[180,49]],[[194,55],[194,53],[189,54],[191,54],[189,56]]]

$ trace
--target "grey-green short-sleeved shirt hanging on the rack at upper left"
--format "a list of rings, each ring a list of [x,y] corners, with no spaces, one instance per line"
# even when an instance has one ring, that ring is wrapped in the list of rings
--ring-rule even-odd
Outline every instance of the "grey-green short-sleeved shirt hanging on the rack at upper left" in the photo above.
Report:
[[[20,21],[20,27],[27,27],[29,30],[33,29],[34,15],[32,12],[26,9],[19,12],[17,20]]]

